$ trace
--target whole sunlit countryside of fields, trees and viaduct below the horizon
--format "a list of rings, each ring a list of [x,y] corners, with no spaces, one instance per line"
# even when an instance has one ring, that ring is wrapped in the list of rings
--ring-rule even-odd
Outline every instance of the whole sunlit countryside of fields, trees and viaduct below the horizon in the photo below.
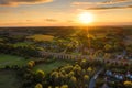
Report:
[[[2,88],[131,87],[131,29],[98,26],[96,30],[91,26],[90,35],[87,35],[87,28],[28,29],[0,30]],[[6,85],[9,77],[11,82]]]

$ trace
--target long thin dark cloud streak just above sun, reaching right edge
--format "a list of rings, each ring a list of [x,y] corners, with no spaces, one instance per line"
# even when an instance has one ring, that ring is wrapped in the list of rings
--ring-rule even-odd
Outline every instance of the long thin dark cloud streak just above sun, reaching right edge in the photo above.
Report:
[[[124,6],[124,7],[96,7],[96,8],[88,8],[86,10],[110,10],[110,9],[132,9],[132,6]]]

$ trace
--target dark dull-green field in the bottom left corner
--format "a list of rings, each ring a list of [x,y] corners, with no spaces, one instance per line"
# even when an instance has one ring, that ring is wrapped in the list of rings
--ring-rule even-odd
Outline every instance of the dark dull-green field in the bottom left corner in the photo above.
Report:
[[[12,70],[0,70],[0,88],[19,88],[20,81]]]

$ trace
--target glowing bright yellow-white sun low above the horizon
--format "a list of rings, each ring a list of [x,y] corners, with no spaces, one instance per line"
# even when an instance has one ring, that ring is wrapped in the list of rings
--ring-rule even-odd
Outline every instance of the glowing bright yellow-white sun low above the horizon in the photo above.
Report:
[[[78,15],[79,22],[84,24],[89,24],[94,22],[94,14],[90,12],[82,12]]]

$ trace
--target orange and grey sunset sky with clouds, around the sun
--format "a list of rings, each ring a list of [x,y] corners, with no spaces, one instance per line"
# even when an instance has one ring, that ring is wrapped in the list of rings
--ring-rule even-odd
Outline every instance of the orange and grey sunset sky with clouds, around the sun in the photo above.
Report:
[[[75,26],[89,12],[89,25],[132,24],[132,0],[0,0],[0,26]]]

